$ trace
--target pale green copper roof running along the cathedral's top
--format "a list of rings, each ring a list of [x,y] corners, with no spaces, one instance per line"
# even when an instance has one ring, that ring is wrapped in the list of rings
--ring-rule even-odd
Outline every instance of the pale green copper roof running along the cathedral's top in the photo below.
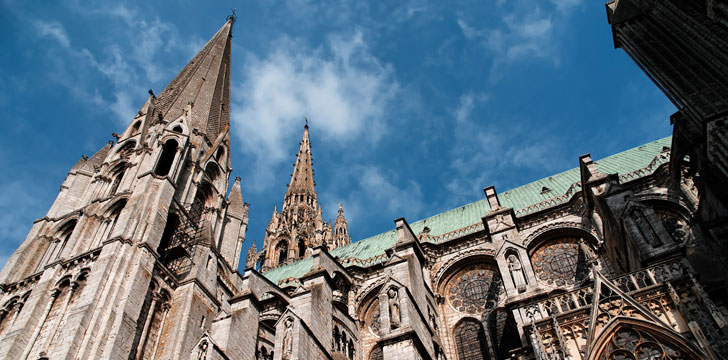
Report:
[[[669,156],[660,156],[665,147],[670,147],[672,137],[651,143],[595,161],[599,171],[605,174],[619,174],[621,183],[652,174],[655,169],[669,161]],[[581,190],[579,168],[558,173],[547,178],[519,186],[498,194],[502,206],[513,208],[516,216],[528,215],[569,201]],[[430,229],[430,238],[423,241],[440,243],[463,235],[483,230],[481,218],[490,210],[486,199],[431,216],[410,224],[412,231],[419,234],[425,227]],[[384,251],[397,241],[394,230],[342,246],[331,251],[344,266],[369,266],[384,260]],[[264,275],[279,286],[295,285],[297,278],[311,269],[310,258],[281,266]],[[285,280],[285,281],[284,281]]]

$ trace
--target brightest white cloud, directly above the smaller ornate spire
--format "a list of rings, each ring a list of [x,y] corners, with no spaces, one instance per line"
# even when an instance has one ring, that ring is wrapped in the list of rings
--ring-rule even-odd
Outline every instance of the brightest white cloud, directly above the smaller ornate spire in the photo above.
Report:
[[[271,184],[273,167],[290,160],[304,116],[323,135],[319,141],[376,142],[399,91],[391,66],[369,53],[361,33],[331,36],[314,49],[283,38],[266,58],[248,58],[244,82],[233,90],[232,121],[243,151],[255,157],[250,184],[258,190]]]

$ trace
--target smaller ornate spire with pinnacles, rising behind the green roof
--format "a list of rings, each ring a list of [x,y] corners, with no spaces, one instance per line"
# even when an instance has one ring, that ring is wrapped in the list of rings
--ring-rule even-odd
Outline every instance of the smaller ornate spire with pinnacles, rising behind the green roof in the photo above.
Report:
[[[273,209],[263,249],[257,256],[248,255],[249,267],[260,261],[260,268],[266,270],[307,257],[315,247],[331,250],[351,242],[341,205],[336,221],[339,224],[337,229],[343,230],[344,235],[334,236],[331,224],[322,219],[321,204],[316,199],[314,186],[307,120],[283,206],[280,212],[277,207]]]

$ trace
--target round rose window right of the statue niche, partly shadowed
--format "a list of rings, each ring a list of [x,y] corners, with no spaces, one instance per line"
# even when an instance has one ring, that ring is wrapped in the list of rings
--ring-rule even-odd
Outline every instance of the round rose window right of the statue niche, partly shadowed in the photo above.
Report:
[[[539,247],[531,256],[536,277],[549,285],[573,285],[587,275],[584,254],[576,238],[561,238]]]

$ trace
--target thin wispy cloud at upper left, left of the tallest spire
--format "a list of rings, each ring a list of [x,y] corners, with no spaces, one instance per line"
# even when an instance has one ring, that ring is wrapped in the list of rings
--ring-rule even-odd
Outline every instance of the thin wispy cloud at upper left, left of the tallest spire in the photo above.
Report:
[[[79,16],[121,20],[121,23],[109,21],[104,28],[115,33],[114,38],[119,41],[94,50],[73,47],[61,23],[31,20],[38,36],[54,39],[66,51],[62,57],[49,56],[56,67],[49,77],[69,89],[77,100],[99,111],[110,110],[121,125],[127,125],[134,116],[146,89],[179,70],[165,66],[165,59],[190,58],[202,46],[199,41],[180,41],[174,25],[141,16],[137,9],[125,5],[101,9],[76,4],[74,10]],[[97,77],[89,74],[89,69],[96,70],[111,83],[110,91],[100,92],[89,86]]]

